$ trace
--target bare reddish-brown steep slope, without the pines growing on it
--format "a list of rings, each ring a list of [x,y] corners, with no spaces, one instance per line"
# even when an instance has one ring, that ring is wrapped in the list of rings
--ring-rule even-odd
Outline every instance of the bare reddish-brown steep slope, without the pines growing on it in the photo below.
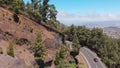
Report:
[[[6,66],[9,68],[34,66],[36,62],[30,48],[33,46],[38,32],[42,33],[42,39],[48,50],[46,62],[53,60],[57,48],[62,43],[59,34],[49,31],[44,26],[37,24],[23,15],[19,15],[18,17],[19,22],[15,22],[13,13],[8,9],[0,7],[0,47],[3,49],[3,54],[0,54],[0,66],[4,68]],[[27,44],[18,44],[18,40],[21,39],[25,40]],[[6,48],[10,40],[14,41],[15,58],[6,54]]]

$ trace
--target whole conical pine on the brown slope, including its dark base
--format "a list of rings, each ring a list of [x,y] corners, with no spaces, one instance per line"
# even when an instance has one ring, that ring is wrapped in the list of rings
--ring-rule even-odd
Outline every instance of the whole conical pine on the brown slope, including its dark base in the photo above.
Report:
[[[47,55],[46,51],[47,50],[42,40],[41,33],[38,33],[34,43],[34,56],[40,68],[44,68],[44,60]]]

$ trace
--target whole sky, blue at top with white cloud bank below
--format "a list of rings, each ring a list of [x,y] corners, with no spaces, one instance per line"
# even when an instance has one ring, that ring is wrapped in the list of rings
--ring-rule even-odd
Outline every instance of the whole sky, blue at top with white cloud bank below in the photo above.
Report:
[[[28,1],[28,0],[25,0]],[[50,0],[66,25],[120,26],[120,0]]]

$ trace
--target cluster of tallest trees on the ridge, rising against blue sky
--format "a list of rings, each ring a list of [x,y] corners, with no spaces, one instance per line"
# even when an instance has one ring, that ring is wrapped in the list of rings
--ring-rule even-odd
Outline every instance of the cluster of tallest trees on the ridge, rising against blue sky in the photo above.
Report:
[[[54,5],[48,4],[49,0],[31,0],[31,2],[32,2],[31,4],[28,3],[26,5],[27,9],[29,9],[29,11],[32,12],[37,12],[38,15],[41,16],[42,21],[44,22],[47,22],[48,20],[52,22],[56,21],[57,10]]]

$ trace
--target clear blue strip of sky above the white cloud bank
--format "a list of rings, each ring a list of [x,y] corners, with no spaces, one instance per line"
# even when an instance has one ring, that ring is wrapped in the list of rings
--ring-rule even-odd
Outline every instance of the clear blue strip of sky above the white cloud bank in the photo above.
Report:
[[[58,11],[68,13],[119,13],[120,0],[50,0]]]

